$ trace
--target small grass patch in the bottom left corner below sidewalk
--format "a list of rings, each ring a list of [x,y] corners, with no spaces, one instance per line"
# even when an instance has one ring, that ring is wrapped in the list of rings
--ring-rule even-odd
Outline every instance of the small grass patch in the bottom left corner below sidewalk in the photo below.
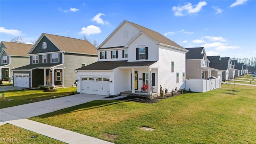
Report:
[[[10,124],[0,126],[0,130],[0,144],[66,144]],[[31,136],[35,136],[35,138],[31,138]]]

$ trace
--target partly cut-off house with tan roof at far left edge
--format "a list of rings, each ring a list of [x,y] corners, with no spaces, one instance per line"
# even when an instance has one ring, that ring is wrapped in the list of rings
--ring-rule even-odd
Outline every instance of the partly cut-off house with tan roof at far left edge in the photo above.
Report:
[[[0,79],[3,82],[12,79],[11,69],[29,64],[27,53],[32,46],[15,42],[0,43]]]

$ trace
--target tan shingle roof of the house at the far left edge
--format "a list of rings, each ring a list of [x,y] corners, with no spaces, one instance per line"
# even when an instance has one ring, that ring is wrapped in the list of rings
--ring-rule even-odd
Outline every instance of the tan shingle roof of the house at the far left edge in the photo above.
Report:
[[[1,45],[4,45],[6,48],[3,50],[9,56],[27,56],[28,51],[32,48],[33,44],[22,44],[16,42],[1,42]]]

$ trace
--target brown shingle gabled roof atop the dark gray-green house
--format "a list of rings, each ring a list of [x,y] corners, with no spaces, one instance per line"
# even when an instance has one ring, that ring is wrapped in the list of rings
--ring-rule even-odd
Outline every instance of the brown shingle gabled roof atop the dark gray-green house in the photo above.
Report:
[[[80,40],[76,38],[69,38],[46,33],[42,33],[28,54],[30,54],[34,48],[36,48],[36,45],[44,36],[46,36],[46,38],[48,38],[62,52],[98,55],[98,52],[95,51],[96,48],[87,40]]]

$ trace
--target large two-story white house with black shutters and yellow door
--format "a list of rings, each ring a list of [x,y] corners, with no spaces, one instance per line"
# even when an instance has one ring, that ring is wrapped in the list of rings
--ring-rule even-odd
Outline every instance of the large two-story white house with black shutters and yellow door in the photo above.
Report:
[[[186,50],[162,34],[124,20],[96,49],[98,62],[78,68],[77,92],[118,96],[185,88]]]

